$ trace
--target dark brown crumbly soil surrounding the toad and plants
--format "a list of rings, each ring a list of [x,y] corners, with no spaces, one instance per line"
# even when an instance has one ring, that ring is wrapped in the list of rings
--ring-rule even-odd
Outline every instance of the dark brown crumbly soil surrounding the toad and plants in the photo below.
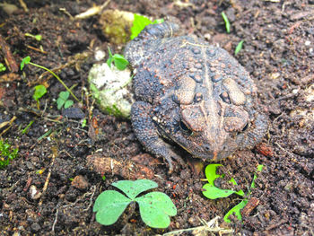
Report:
[[[231,55],[244,40],[235,57],[256,81],[260,106],[271,122],[262,144],[220,162],[219,172],[236,179],[237,188],[246,194],[257,165],[264,165],[256,188],[247,195],[242,222],[231,216],[231,223],[222,218],[242,198],[203,196],[201,179],[209,162],[182,152],[187,166],[169,173],[163,160],[144,151],[129,120],[103,114],[89,96],[87,76],[95,49],[107,52],[110,46],[122,53],[124,45],[109,43],[100,30],[99,15],[80,21],[69,15],[103,1],[24,0],[28,12],[19,4],[22,1],[6,2],[15,4],[17,11],[8,14],[0,7],[0,63],[6,59],[11,64],[0,72],[0,133],[19,153],[0,170],[1,235],[155,235],[202,226],[201,221],[216,216],[220,218],[215,218],[212,232],[182,235],[222,235],[223,229],[231,230],[230,235],[314,235],[313,1],[111,0],[106,6],[153,19],[172,17],[180,22],[182,33],[204,37]],[[222,11],[231,22],[230,33]],[[26,32],[42,39],[26,37]],[[13,61],[19,67],[26,56],[74,86],[82,102],[75,101],[74,109],[57,109],[64,86],[38,67],[28,65],[22,72],[14,67]],[[38,84],[48,89],[39,104],[32,98]],[[97,223],[92,212],[96,197],[114,189],[110,184],[120,179],[156,181],[157,190],[170,196],[178,209],[170,227],[147,227],[135,205],[111,226]],[[221,179],[216,185],[223,188],[228,183]]]

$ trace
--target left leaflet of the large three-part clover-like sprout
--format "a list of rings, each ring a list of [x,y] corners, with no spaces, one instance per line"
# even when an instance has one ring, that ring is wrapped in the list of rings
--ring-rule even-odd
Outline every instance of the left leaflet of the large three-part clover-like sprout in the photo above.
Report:
[[[118,217],[132,201],[115,190],[102,192],[96,199],[92,211],[97,212],[96,221],[110,225],[118,221]]]

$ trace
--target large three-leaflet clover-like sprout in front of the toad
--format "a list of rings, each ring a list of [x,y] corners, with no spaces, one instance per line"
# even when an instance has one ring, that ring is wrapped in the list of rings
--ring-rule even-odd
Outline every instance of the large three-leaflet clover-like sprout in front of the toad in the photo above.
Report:
[[[125,195],[116,190],[102,192],[96,199],[93,212],[97,212],[96,221],[104,225],[110,225],[118,221],[118,217],[126,210],[126,206],[136,202],[140,208],[140,214],[144,223],[152,228],[167,228],[170,225],[170,217],[177,214],[177,208],[166,194],[161,192],[149,192],[137,197],[158,185],[153,180],[137,179],[121,180],[112,184]]]

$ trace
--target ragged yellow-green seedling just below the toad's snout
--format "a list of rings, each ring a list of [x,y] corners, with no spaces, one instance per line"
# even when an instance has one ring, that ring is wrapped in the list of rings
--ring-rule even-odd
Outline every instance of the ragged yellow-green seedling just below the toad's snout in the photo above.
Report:
[[[226,223],[230,223],[231,221],[229,220],[229,216],[231,214],[235,214],[237,216],[237,218],[241,221],[242,220],[242,216],[240,214],[240,210],[244,208],[245,205],[248,204],[248,197],[251,193],[251,188],[255,188],[255,179],[257,179],[257,174],[254,174],[252,183],[249,187],[249,192],[247,195],[244,194],[243,190],[239,190],[239,191],[235,191],[232,189],[221,189],[221,188],[217,188],[214,186],[214,180],[218,179],[218,178],[223,178],[224,175],[219,175],[216,174],[216,169],[218,166],[222,166],[221,164],[210,164],[206,166],[205,169],[205,176],[206,179],[208,180],[208,183],[206,183],[203,188],[205,189],[205,191],[203,191],[203,194],[205,197],[209,198],[209,199],[216,199],[216,198],[220,198],[220,197],[229,197],[231,194],[237,194],[241,197],[244,197],[244,199],[242,199],[240,201],[240,203],[238,205],[235,205],[234,207],[231,208],[231,210],[224,215],[223,220]],[[263,169],[263,165],[258,165],[257,166],[257,171],[261,171]],[[235,179],[231,178],[231,180],[229,180],[230,183],[232,183],[233,185],[237,185],[237,182],[235,181]]]

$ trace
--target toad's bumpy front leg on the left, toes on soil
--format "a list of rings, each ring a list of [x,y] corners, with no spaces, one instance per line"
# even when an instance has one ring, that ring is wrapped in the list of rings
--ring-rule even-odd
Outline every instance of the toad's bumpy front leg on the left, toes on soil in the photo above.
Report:
[[[163,157],[169,163],[170,172],[173,170],[172,159],[183,164],[178,154],[171,150],[170,144],[163,141],[150,116],[152,105],[146,101],[136,101],[131,109],[131,121],[137,139],[144,145],[144,148],[156,155]]]

